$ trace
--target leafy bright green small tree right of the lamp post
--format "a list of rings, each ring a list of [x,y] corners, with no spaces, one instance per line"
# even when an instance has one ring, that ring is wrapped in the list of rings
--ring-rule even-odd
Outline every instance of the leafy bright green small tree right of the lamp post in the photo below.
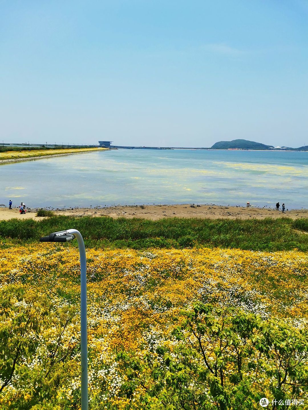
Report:
[[[277,403],[306,397],[307,330],[202,303],[181,313],[174,342],[143,360],[118,355],[127,377],[123,395],[136,396],[141,386],[145,408],[170,410],[251,410],[264,396]]]

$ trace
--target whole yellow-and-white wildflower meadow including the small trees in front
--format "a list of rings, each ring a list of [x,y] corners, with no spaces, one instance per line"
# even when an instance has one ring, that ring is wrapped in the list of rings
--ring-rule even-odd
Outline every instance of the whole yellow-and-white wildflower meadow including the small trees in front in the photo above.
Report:
[[[79,409],[78,250],[0,260],[0,408]],[[297,250],[88,248],[90,409],[304,408],[307,266]]]

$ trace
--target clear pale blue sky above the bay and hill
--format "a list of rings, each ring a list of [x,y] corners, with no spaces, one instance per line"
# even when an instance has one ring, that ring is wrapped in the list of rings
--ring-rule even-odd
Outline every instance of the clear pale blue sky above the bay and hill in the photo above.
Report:
[[[0,0],[0,53],[5,142],[308,145],[308,0]]]

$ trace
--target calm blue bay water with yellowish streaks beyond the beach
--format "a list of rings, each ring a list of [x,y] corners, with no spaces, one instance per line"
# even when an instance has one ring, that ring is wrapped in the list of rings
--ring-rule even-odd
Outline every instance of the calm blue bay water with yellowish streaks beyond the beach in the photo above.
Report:
[[[110,150],[0,166],[0,202],[28,207],[214,203],[308,208],[308,153]]]

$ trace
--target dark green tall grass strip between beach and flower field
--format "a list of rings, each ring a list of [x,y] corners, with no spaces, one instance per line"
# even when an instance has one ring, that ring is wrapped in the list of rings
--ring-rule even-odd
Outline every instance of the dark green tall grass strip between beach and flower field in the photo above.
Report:
[[[253,251],[308,251],[308,219],[112,219],[54,216],[42,221],[0,221],[2,246],[37,242],[41,236],[78,229],[88,248],[239,248]],[[9,238],[9,240],[7,240]]]

